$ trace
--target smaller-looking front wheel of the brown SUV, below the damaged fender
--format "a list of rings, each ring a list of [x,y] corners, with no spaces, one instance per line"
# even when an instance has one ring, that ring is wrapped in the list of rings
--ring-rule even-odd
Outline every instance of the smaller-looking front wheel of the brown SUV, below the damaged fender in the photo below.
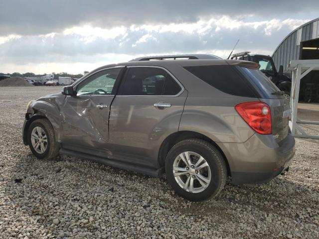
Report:
[[[33,131],[34,130],[34,131]],[[43,131],[42,131],[43,130]],[[42,144],[38,143],[39,147],[33,146],[34,142],[39,141],[36,137],[31,138],[31,134],[37,135],[39,138],[39,131],[41,131],[41,139],[45,147],[42,148]],[[45,137],[46,136],[46,137]],[[33,141],[32,141],[33,140]],[[46,142],[45,142],[46,140]],[[40,159],[51,159],[59,155],[59,146],[55,140],[53,127],[48,119],[36,119],[31,122],[28,128],[28,144],[33,155]],[[41,150],[42,149],[42,150]],[[44,149],[44,150],[43,150]]]

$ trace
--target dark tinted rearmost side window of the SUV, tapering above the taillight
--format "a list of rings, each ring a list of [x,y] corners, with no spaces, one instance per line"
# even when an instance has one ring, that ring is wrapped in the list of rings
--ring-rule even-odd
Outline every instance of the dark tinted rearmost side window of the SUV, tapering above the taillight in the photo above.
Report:
[[[256,97],[247,82],[240,77],[233,66],[188,66],[184,67],[194,76],[212,87],[234,96]]]

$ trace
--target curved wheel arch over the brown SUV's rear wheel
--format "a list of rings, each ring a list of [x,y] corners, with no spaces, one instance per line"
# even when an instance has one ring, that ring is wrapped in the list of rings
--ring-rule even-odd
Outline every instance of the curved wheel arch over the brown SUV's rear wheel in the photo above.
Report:
[[[229,166],[227,157],[224,154],[224,152],[221,150],[221,148],[211,138],[207,137],[204,134],[194,132],[194,131],[186,131],[186,130],[177,131],[177,132],[174,132],[174,133],[168,135],[160,145],[160,150],[159,150],[159,154],[158,154],[159,165],[161,167],[164,167],[166,155],[173,145],[175,145],[177,142],[180,142],[180,141],[185,140],[185,139],[190,139],[190,138],[202,139],[202,140],[205,140],[206,142],[209,142],[213,146],[215,146],[218,149],[218,151],[222,154],[222,156],[225,160],[225,163],[227,166],[227,175],[231,176],[230,166]]]

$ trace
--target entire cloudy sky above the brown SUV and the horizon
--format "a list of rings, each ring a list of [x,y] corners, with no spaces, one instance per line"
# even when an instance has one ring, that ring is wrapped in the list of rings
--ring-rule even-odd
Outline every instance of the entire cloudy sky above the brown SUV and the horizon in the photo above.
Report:
[[[318,0],[0,0],[0,72],[91,71],[139,56],[272,55]]]

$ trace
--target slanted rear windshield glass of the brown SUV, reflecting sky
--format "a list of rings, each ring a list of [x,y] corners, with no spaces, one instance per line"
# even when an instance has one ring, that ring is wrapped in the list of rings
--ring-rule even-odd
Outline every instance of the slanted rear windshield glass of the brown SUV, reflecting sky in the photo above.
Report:
[[[280,94],[272,94],[280,91],[278,87],[268,79],[264,73],[258,69],[246,68],[242,66],[237,66],[241,73],[249,80],[250,84],[260,95],[260,98],[265,99],[281,99],[284,96]]]

